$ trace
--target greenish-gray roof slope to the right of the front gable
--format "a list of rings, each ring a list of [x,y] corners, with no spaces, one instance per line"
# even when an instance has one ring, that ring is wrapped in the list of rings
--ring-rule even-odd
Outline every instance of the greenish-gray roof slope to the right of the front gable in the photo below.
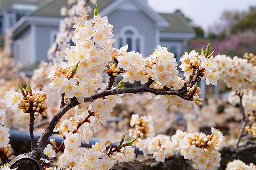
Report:
[[[184,33],[194,33],[194,30],[186,22],[185,18],[177,13],[160,13],[169,23],[170,26],[163,29],[163,32],[184,32]]]

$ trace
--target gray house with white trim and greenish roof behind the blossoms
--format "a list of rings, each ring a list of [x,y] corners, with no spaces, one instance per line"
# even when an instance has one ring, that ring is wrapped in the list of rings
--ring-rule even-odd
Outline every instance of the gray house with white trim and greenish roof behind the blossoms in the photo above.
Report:
[[[67,0],[19,1],[40,4],[12,26],[15,62],[33,66],[47,60],[47,50],[55,40],[62,19],[60,9],[67,6]],[[157,13],[148,6],[147,0],[98,0],[97,3],[100,13],[108,16],[114,26],[115,46],[118,48],[128,44],[128,50],[148,56],[160,44],[167,46],[178,59],[186,51],[187,40],[195,36],[180,14]]]

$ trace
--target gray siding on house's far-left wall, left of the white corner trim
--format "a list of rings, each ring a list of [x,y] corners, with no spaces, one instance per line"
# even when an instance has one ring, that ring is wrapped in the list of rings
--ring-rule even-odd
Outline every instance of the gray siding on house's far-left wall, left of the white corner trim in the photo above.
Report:
[[[34,63],[31,27],[14,38],[13,52],[16,63],[25,65]]]

